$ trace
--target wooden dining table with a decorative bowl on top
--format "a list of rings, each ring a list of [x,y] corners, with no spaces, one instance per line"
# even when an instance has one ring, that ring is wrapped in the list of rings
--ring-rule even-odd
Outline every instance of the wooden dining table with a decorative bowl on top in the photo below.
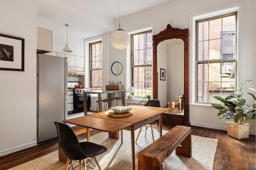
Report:
[[[131,133],[131,154],[132,154],[132,170],[135,170],[135,143],[134,131],[152,121],[159,120],[159,133],[162,136],[162,113],[170,108],[164,107],[149,107],[149,106],[128,106],[131,107],[133,115],[127,117],[112,117],[108,116],[108,111],[64,120],[66,123],[71,123],[86,128],[97,129],[100,131],[109,132],[109,137],[115,138],[119,134],[119,130],[129,130]],[[96,124],[94,125],[94,122]],[[115,129],[112,129],[115,128]],[[119,136],[118,136],[119,138]],[[115,138],[116,139],[116,138]],[[87,131],[87,140],[90,141],[90,131]]]

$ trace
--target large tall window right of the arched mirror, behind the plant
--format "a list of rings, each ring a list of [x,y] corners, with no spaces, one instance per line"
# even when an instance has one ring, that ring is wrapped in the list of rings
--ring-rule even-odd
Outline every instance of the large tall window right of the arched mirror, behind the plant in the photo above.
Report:
[[[196,101],[217,103],[236,88],[237,12],[196,21]]]

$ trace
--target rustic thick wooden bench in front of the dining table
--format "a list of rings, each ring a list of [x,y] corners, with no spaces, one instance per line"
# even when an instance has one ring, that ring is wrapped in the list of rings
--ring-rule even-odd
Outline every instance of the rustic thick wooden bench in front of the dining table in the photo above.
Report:
[[[138,170],[162,170],[162,163],[176,149],[177,155],[191,158],[191,127],[175,126],[138,153]]]

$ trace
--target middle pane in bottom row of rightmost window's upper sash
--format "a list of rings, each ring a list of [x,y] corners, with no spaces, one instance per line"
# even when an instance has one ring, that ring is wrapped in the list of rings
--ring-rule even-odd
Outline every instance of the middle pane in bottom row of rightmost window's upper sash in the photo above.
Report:
[[[220,59],[220,39],[209,41],[209,60]]]

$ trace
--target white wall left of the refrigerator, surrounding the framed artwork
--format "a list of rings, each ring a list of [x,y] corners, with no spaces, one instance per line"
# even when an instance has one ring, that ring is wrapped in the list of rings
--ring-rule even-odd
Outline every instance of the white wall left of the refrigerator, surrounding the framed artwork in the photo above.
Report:
[[[1,0],[1,34],[25,39],[25,71],[0,70],[0,156],[37,145],[36,1]]]

